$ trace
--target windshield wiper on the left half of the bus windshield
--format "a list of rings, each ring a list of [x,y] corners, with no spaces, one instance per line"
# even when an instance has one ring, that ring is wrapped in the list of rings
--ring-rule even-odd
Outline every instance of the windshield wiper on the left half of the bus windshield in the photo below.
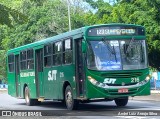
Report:
[[[116,51],[114,48],[114,45],[111,46],[111,44],[106,40],[106,38],[102,38],[102,42],[107,45],[107,49],[110,51],[111,54],[113,54],[115,56],[115,60],[117,62],[117,56],[116,56]],[[113,48],[112,48],[113,47]]]

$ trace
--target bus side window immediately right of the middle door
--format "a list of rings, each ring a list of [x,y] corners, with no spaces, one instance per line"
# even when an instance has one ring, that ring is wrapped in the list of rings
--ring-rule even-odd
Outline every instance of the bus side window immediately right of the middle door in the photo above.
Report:
[[[44,46],[44,67],[50,67],[51,66],[51,51],[52,51],[52,45],[48,44]]]

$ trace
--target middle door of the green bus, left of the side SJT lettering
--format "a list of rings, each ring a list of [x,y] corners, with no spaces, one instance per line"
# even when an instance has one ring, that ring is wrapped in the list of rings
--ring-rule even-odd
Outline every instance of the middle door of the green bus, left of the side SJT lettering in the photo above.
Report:
[[[37,97],[43,97],[43,49],[35,51],[35,80]]]

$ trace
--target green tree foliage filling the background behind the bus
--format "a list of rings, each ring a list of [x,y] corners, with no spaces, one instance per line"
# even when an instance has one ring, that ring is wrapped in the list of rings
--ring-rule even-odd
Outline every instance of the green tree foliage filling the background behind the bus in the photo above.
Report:
[[[84,1],[90,6],[85,6]],[[117,0],[114,5],[104,0],[72,0],[71,26],[76,29],[107,23],[143,25],[146,28],[149,64],[160,70],[159,6],[159,0]],[[3,61],[7,50],[68,31],[67,7],[67,0],[1,0],[1,76],[6,77]]]

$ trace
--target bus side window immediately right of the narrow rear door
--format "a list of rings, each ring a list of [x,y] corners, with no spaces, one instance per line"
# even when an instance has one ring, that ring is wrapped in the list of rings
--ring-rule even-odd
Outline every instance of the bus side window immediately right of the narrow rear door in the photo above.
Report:
[[[27,56],[26,51],[21,51],[20,53],[20,69],[25,70],[27,69]]]

